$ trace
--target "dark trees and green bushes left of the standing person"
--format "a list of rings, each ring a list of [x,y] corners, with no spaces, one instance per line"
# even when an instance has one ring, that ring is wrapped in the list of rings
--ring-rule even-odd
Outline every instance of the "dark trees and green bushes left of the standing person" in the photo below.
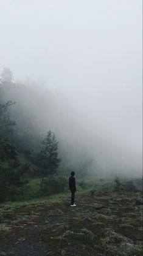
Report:
[[[7,92],[16,86],[10,69],[4,68],[0,81],[0,96],[3,96],[0,97],[0,203],[65,192],[65,178],[51,177],[57,173],[61,162],[55,134],[51,130],[47,132],[42,149],[40,137],[35,134],[34,141],[39,141],[39,145],[33,151],[35,145],[30,138],[29,116],[25,119],[20,110],[13,115],[16,118],[13,121],[11,107],[16,102],[3,100],[7,99]],[[23,126],[28,124],[26,129],[19,126],[22,122]],[[13,129],[16,126],[18,128]]]

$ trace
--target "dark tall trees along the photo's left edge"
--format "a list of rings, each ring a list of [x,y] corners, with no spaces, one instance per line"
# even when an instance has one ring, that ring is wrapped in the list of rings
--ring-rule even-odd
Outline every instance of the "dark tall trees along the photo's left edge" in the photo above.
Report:
[[[22,182],[24,168],[9,135],[16,122],[11,119],[9,107],[15,102],[0,104],[0,202],[11,200]]]

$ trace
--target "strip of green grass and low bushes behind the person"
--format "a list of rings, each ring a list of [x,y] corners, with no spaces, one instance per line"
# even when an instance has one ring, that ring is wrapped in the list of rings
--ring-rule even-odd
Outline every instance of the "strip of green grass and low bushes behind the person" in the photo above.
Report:
[[[26,179],[26,178],[25,178]],[[84,184],[84,186],[83,186]],[[114,183],[105,181],[100,182],[100,178],[77,179],[77,194],[92,193],[95,194],[113,190]],[[41,203],[46,201],[60,201],[63,198],[70,197],[68,188],[68,177],[66,176],[49,176],[45,179],[43,190],[41,190],[40,178],[28,178],[22,188],[16,195],[16,201],[10,200],[1,203],[1,206],[27,205]]]

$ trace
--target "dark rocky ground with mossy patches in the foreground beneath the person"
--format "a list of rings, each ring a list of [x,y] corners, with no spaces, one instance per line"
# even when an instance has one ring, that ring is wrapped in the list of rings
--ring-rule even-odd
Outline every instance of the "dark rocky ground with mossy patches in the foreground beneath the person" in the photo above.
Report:
[[[142,255],[140,193],[77,193],[76,203],[0,208],[0,255]]]

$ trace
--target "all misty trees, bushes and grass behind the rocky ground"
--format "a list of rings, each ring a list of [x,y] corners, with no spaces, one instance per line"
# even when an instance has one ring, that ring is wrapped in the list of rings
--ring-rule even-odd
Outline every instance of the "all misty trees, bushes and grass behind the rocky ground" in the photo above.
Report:
[[[78,159],[76,156],[75,162],[72,163],[73,152],[69,149],[69,157],[67,157],[62,141],[58,145],[58,135],[47,127],[44,127],[44,133],[40,134],[37,130],[38,125],[35,125],[37,118],[33,116],[34,111],[31,111],[31,108],[38,112],[40,104],[46,100],[46,107],[48,106],[50,110],[51,102],[55,99],[51,92],[46,95],[46,98],[44,98],[44,92],[41,92],[40,102],[37,101],[39,99],[37,97],[31,102],[31,96],[35,91],[36,88],[32,89],[23,83],[13,82],[10,69],[5,68],[2,71],[0,79],[0,203],[64,196],[69,192],[68,176],[71,170],[76,173],[77,191],[84,193],[90,190],[92,197],[97,193],[109,193],[113,190],[141,191],[142,184],[138,180],[134,183],[120,181],[116,177],[114,184],[114,177],[111,180],[101,177],[88,178],[92,159],[85,156]],[[26,102],[23,94],[27,96]],[[44,110],[44,105],[41,109]],[[50,127],[52,119],[49,118],[48,122]]]

